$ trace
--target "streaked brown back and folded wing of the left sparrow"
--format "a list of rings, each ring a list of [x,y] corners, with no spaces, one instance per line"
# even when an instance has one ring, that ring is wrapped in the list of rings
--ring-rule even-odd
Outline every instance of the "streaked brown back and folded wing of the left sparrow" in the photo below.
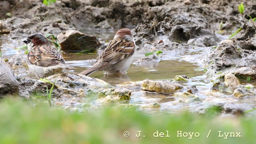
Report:
[[[56,64],[65,64],[64,58],[50,45],[35,46],[28,53],[28,61],[37,66],[55,66]]]

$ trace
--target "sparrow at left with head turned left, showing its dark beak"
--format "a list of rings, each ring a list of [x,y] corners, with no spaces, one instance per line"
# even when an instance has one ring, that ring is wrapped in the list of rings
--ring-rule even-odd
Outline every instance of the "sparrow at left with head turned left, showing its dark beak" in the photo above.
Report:
[[[53,74],[64,73],[65,60],[41,33],[30,34],[23,41],[28,45],[27,64],[30,71],[39,79]]]

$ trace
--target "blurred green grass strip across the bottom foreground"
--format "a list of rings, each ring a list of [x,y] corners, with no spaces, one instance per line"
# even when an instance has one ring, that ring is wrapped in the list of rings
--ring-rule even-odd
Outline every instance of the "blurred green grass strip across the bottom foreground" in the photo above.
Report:
[[[0,102],[0,128],[0,144],[252,144],[256,136],[252,116],[149,114],[114,107],[68,112],[17,99]]]

